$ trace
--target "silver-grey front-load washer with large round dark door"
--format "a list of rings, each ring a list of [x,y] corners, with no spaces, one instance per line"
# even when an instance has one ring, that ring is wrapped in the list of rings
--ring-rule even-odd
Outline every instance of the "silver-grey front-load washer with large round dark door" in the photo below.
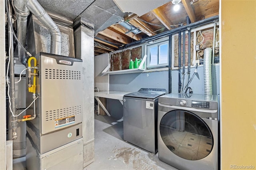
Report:
[[[158,157],[180,170],[218,169],[218,100],[170,93],[158,99]]]

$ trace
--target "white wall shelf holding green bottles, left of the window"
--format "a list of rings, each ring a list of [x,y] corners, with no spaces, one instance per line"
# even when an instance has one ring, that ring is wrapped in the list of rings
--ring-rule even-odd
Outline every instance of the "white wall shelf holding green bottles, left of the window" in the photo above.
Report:
[[[147,58],[147,55],[145,54],[138,69],[126,69],[126,70],[109,71],[109,69],[110,69],[110,64],[109,64],[101,73],[103,75],[105,75],[105,74],[141,73],[141,72],[146,70],[146,69],[142,69],[142,66],[145,63],[146,58]]]

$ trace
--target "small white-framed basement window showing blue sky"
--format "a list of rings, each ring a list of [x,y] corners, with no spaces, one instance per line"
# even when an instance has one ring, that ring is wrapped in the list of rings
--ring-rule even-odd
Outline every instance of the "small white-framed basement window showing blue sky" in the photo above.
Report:
[[[147,45],[147,68],[168,66],[169,41]]]

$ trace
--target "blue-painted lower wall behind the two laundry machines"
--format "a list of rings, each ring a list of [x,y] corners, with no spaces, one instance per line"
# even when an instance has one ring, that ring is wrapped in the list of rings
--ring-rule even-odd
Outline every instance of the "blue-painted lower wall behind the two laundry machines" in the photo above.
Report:
[[[191,68],[191,75],[195,71],[195,67]],[[187,69],[185,70],[187,72]],[[187,74],[184,83],[186,83]],[[166,89],[168,93],[168,71],[157,71],[148,73],[130,73],[110,75],[109,90],[110,91],[127,91],[135,92],[140,88],[159,88]],[[213,94],[220,94],[220,65],[215,64],[213,69]],[[189,87],[193,89],[195,94],[204,94],[204,67],[198,67],[197,73],[191,81]],[[172,70],[172,93],[178,93],[178,70]],[[187,92],[189,93],[189,92]],[[121,119],[123,116],[123,107],[118,100],[107,99],[107,109],[112,117]],[[113,107],[115,106],[115,107]]]

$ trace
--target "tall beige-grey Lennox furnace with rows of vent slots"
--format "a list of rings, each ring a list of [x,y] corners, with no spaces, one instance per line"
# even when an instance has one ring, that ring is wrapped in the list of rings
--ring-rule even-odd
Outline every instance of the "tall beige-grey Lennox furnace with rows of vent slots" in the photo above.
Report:
[[[36,113],[26,121],[26,168],[82,170],[82,60],[48,53],[36,60],[38,98],[26,112]],[[33,100],[27,92],[27,107]]]

